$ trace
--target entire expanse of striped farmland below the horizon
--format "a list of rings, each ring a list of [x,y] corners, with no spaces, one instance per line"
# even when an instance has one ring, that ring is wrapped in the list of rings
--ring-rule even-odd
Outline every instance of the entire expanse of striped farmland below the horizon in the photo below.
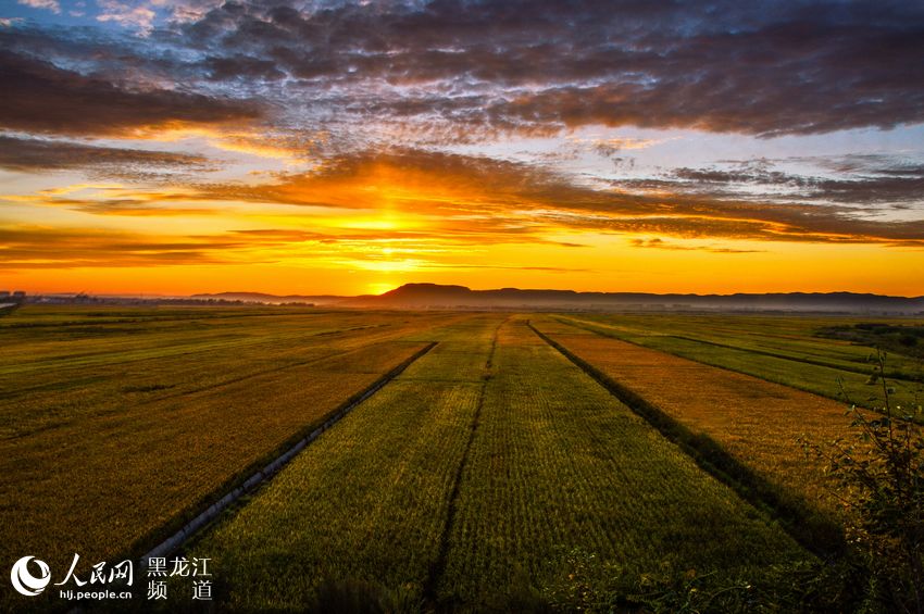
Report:
[[[0,560],[138,557],[384,383],[186,542],[216,607],[785,611],[828,546],[796,523],[841,522],[795,439],[846,435],[838,376],[874,388],[871,348],[814,336],[845,322],[26,305],[0,318]],[[906,405],[916,368],[891,352]]]

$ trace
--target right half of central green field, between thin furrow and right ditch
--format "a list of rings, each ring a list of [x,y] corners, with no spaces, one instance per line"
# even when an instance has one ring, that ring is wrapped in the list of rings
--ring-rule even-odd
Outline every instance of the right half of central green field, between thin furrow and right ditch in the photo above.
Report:
[[[549,560],[575,548],[638,575],[808,556],[523,321],[501,328],[458,509],[450,609],[561,572]]]

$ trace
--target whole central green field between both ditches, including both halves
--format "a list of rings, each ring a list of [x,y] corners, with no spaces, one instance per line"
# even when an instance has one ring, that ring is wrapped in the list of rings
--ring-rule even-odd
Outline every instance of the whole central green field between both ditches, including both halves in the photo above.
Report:
[[[557,546],[639,573],[810,556],[523,323],[501,322],[445,329],[195,543],[221,565],[223,607],[303,609],[334,579],[477,609],[478,589],[502,592],[516,566],[538,578]]]

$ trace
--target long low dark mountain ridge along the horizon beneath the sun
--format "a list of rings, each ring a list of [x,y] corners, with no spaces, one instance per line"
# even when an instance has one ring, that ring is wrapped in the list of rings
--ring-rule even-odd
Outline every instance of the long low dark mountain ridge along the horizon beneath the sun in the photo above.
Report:
[[[379,296],[275,296],[260,292],[196,295],[197,299],[251,302],[310,302],[379,309],[639,309],[715,311],[794,311],[876,314],[924,314],[924,297],[888,297],[856,292],[773,292],[734,295],[654,295],[648,292],[577,292],[574,290],[472,290],[465,286],[405,284]]]

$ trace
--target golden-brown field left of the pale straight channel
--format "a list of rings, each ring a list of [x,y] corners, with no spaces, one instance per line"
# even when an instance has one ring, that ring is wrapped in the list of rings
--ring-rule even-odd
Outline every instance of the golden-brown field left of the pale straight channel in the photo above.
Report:
[[[0,551],[138,553],[451,316],[23,309],[0,335]]]

